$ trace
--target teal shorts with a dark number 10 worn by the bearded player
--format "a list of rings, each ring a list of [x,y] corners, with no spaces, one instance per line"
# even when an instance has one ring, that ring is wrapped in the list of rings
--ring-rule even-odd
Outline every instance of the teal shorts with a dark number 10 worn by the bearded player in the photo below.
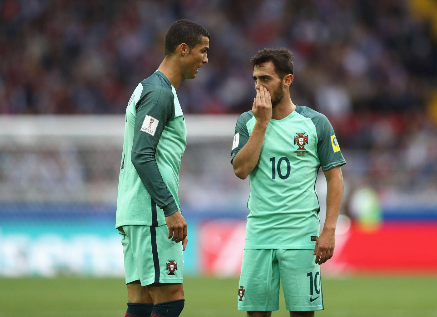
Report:
[[[279,309],[279,283],[290,311],[323,310],[320,265],[314,250],[245,249],[238,310]]]

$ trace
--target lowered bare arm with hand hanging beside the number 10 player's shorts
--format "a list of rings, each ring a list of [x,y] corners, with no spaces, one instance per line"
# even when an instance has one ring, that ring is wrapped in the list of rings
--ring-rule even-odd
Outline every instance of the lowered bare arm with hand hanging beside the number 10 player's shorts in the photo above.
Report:
[[[334,255],[335,228],[338,214],[340,212],[341,199],[343,197],[343,175],[340,166],[329,169],[325,172],[326,192],[326,219],[323,231],[316,241],[316,262],[325,263]]]

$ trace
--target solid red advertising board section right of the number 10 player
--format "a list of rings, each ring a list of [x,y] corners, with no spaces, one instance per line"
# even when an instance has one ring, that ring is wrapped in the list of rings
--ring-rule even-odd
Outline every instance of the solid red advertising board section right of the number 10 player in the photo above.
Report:
[[[329,264],[351,272],[437,272],[436,238],[437,222],[385,222],[374,229],[353,223]]]

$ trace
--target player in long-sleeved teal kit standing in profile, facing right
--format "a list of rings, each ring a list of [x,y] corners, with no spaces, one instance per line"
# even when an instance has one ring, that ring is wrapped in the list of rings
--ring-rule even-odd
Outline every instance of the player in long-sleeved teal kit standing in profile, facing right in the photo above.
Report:
[[[184,308],[179,167],[187,130],[176,90],[208,63],[211,35],[188,20],[165,36],[165,57],[128,102],[118,183],[116,228],[128,288],[126,317],[177,317]]]

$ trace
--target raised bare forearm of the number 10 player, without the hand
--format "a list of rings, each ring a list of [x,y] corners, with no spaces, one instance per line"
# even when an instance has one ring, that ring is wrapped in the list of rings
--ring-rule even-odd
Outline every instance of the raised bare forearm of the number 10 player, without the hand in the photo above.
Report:
[[[255,124],[247,143],[232,160],[235,175],[241,179],[246,179],[255,166],[257,166],[258,159],[260,158],[261,146],[263,145],[264,136],[266,134],[267,124],[259,122]]]

